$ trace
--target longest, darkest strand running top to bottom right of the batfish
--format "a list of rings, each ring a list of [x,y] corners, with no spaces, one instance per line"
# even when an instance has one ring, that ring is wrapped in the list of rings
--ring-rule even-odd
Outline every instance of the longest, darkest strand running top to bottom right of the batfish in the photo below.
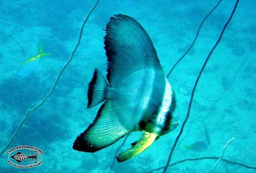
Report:
[[[194,93],[195,93],[197,84],[198,84],[198,82],[199,82],[199,79],[200,79],[200,77],[201,77],[201,74],[202,74],[202,72],[203,72],[203,70],[204,70],[204,68],[205,68],[205,66],[206,66],[206,64],[207,64],[207,62],[208,62],[208,60],[209,60],[209,58],[211,57],[211,55],[212,55],[214,49],[216,49],[216,47],[217,47],[219,41],[221,40],[221,38],[222,38],[222,36],[223,36],[223,33],[224,33],[224,31],[226,30],[226,27],[228,26],[228,24],[229,24],[231,18],[233,17],[233,14],[234,14],[234,12],[235,12],[235,10],[236,10],[236,7],[237,7],[238,2],[239,2],[239,0],[236,1],[236,4],[235,4],[235,6],[234,6],[234,8],[233,8],[233,11],[232,11],[232,13],[231,13],[231,15],[230,15],[230,17],[229,17],[228,22],[224,25],[224,27],[223,27],[223,29],[222,29],[222,31],[221,31],[221,33],[220,33],[220,36],[219,36],[218,40],[216,41],[214,47],[211,49],[210,53],[208,54],[207,58],[205,59],[205,62],[203,63],[202,68],[201,68],[201,70],[200,70],[200,72],[199,72],[199,74],[198,74],[198,76],[197,76],[196,82],[195,82],[195,84],[194,84],[194,87],[193,87],[193,90],[192,90],[192,93],[191,93],[191,96],[190,96],[189,108],[188,108],[188,112],[187,112],[186,118],[185,118],[185,120],[184,120],[184,122],[183,122],[183,124],[182,124],[182,126],[181,126],[181,129],[180,129],[180,132],[179,132],[178,136],[177,136],[176,139],[175,139],[175,143],[174,143],[174,145],[173,145],[173,148],[172,148],[171,151],[170,151],[170,154],[169,154],[169,157],[168,157],[168,161],[167,161],[166,166],[165,166],[165,168],[164,168],[164,170],[163,170],[162,173],[165,173],[165,171],[167,170],[168,165],[169,165],[169,163],[170,163],[170,161],[171,161],[172,154],[173,154],[173,152],[174,152],[174,148],[175,148],[175,146],[177,145],[177,142],[178,142],[178,140],[179,140],[179,138],[180,138],[180,136],[181,136],[181,134],[182,134],[182,132],[183,132],[183,128],[184,128],[185,124],[186,124],[187,121],[188,121],[189,113],[190,113],[190,109],[191,109],[191,105],[192,105],[192,101],[193,101],[193,98],[194,98]]]

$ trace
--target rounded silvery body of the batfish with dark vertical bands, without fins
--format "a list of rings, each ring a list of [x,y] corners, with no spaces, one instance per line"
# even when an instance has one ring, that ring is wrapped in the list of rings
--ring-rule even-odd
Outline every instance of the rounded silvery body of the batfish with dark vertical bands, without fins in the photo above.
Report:
[[[175,97],[162,69],[135,71],[119,85],[108,88],[107,98],[115,100],[113,109],[127,130],[159,135],[170,130]]]

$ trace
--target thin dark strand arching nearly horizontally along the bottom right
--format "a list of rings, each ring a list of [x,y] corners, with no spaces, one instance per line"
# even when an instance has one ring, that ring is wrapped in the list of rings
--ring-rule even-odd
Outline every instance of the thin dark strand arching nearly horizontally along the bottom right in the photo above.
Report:
[[[169,164],[169,166],[174,166],[176,164],[179,164],[179,163],[183,163],[183,162],[186,162],[186,161],[200,161],[200,160],[218,160],[219,157],[202,157],[202,158],[194,158],[194,159],[184,159],[182,161],[177,161],[175,163],[172,163],[172,164]],[[256,170],[256,167],[253,167],[253,166],[248,166],[248,165],[245,165],[243,163],[238,163],[238,162],[233,162],[233,161],[229,161],[227,159],[221,159],[222,161],[225,161],[227,163],[230,163],[230,164],[234,164],[234,165],[240,165],[240,166],[243,166],[244,168],[248,168],[248,169],[254,169]],[[153,173],[154,171],[158,171],[158,170],[162,170],[163,168],[165,168],[165,166],[162,166],[160,168],[156,168],[156,169],[153,169],[147,173]]]

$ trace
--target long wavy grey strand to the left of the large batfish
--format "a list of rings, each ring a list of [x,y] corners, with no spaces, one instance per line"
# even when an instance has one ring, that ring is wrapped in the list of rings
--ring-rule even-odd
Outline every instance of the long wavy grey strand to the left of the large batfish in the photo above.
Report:
[[[51,88],[51,90],[49,91],[49,93],[41,100],[41,102],[40,102],[38,105],[36,105],[35,107],[33,107],[33,108],[31,108],[31,109],[29,109],[29,110],[27,111],[27,113],[26,113],[26,115],[24,116],[23,120],[20,122],[20,124],[19,124],[18,127],[16,128],[16,130],[15,130],[13,136],[10,138],[8,144],[7,144],[7,145],[5,146],[5,148],[3,148],[3,150],[1,151],[0,156],[1,156],[2,153],[10,146],[10,144],[12,143],[14,137],[18,134],[20,128],[22,127],[22,125],[24,124],[24,122],[27,120],[27,117],[28,117],[28,115],[30,114],[30,112],[31,112],[31,111],[35,111],[36,109],[38,109],[38,108],[51,96],[51,94],[53,93],[54,88],[55,88],[55,86],[57,85],[57,83],[58,83],[58,81],[59,81],[59,79],[60,79],[61,74],[64,72],[64,70],[66,69],[67,65],[68,65],[69,62],[72,60],[72,58],[73,58],[73,56],[74,56],[74,54],[75,54],[75,52],[76,52],[76,50],[77,50],[77,48],[78,48],[80,42],[81,42],[81,37],[82,37],[82,32],[83,32],[84,25],[85,25],[85,23],[87,22],[88,18],[90,17],[91,13],[94,11],[94,9],[95,9],[95,7],[97,6],[98,2],[99,2],[99,0],[96,0],[96,2],[94,3],[93,8],[89,11],[89,13],[87,14],[87,16],[85,17],[85,19],[84,19],[84,21],[83,21],[83,24],[82,24],[82,26],[81,26],[80,35],[79,35],[79,37],[78,37],[77,44],[76,44],[75,48],[73,49],[73,51],[72,51],[72,53],[71,53],[69,59],[67,60],[67,62],[65,63],[65,65],[62,67],[60,73],[58,74],[58,76],[57,76],[57,78],[56,78],[56,80],[55,80],[55,82],[54,82],[53,87]]]

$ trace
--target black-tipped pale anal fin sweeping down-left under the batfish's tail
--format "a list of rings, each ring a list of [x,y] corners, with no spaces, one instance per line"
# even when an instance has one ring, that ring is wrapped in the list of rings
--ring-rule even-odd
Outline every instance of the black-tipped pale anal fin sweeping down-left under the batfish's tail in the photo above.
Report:
[[[116,142],[130,133],[121,126],[112,109],[112,101],[107,100],[91,124],[73,144],[73,149],[84,152],[95,152]]]

